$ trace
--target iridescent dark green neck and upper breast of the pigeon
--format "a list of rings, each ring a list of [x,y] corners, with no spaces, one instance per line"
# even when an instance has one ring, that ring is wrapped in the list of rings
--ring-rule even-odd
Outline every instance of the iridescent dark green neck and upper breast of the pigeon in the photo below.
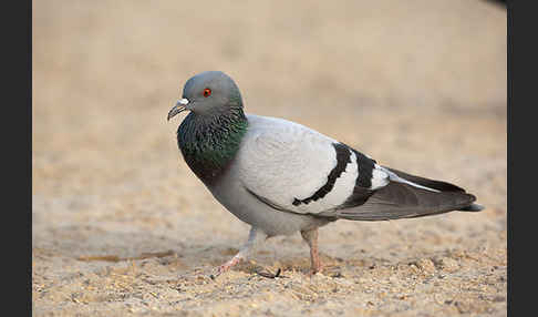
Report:
[[[177,130],[177,144],[185,162],[206,184],[213,184],[228,167],[247,132],[241,108],[226,113],[189,113]]]

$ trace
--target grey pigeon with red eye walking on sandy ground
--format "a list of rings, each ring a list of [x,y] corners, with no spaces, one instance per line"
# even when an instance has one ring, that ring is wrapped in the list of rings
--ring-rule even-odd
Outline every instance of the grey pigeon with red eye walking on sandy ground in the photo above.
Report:
[[[265,239],[297,232],[310,247],[310,274],[319,273],[318,228],[338,219],[484,209],[456,185],[383,166],[299,123],[245,113],[238,85],[220,71],[188,79],[167,120],[184,111],[189,113],[177,130],[183,158],[225,208],[251,226],[217,276]]]

